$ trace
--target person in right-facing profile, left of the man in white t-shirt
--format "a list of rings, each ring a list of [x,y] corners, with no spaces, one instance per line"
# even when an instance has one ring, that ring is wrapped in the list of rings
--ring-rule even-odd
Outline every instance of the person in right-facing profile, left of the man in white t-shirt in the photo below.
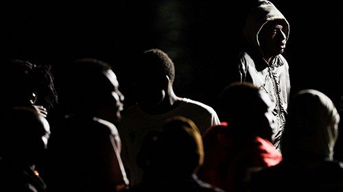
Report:
[[[123,95],[110,65],[75,61],[61,87],[60,119],[51,126],[45,178],[49,191],[121,191],[128,180],[121,163],[119,121]]]

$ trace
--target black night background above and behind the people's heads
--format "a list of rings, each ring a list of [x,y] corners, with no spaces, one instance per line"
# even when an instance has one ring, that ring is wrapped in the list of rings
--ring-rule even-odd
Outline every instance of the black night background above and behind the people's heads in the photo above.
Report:
[[[160,48],[176,66],[175,92],[216,108],[233,81],[246,1],[93,1],[0,3],[2,58],[51,64],[56,82],[82,57],[113,65],[130,106],[130,78],[145,49]],[[290,24],[284,56],[292,93],[314,88],[338,108],[343,95],[342,11],[339,1],[272,1]],[[342,114],[342,112],[341,112]]]

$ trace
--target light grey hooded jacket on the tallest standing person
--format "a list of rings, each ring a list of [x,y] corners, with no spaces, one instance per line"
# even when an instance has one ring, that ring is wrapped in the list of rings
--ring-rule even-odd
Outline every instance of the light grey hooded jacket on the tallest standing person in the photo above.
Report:
[[[273,113],[276,121],[276,126],[273,128],[274,145],[279,149],[290,93],[289,66],[287,60],[281,54],[275,56],[268,64],[263,58],[258,38],[261,28],[266,23],[275,20],[283,23],[283,32],[286,40],[288,40],[289,23],[285,16],[270,1],[257,1],[247,16],[243,30],[244,36],[246,36],[246,40],[251,47],[239,54],[238,65],[240,82],[252,82],[255,86],[268,93],[274,103]]]

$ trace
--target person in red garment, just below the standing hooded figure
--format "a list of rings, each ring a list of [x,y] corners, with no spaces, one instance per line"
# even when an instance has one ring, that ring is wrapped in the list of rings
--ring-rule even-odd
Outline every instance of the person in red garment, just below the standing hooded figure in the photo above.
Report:
[[[251,173],[282,159],[272,144],[271,101],[247,82],[224,88],[220,101],[223,122],[202,135],[205,158],[198,176],[224,191],[246,191]]]

